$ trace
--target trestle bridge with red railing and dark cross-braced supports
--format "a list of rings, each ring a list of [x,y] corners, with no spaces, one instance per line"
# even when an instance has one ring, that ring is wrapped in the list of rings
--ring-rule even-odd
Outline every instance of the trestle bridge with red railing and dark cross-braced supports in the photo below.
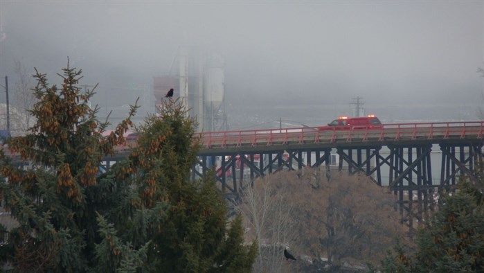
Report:
[[[422,215],[433,210],[435,193],[454,186],[459,175],[474,177],[482,162],[483,121],[320,129],[204,132],[192,178],[216,166],[222,191],[237,193],[244,182],[283,169],[321,167],[328,179],[332,170],[364,173],[397,195],[402,222],[413,227],[413,220],[421,222]],[[431,152],[436,147],[440,166],[432,164]],[[433,167],[440,168],[439,182],[433,182]]]

